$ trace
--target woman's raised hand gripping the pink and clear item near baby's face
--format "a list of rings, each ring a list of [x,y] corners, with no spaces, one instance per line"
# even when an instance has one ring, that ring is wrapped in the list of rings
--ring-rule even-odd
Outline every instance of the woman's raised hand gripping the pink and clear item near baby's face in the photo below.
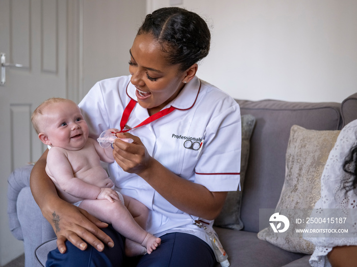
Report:
[[[147,170],[153,159],[147,152],[140,138],[130,133],[117,133],[117,136],[119,138],[114,141],[113,156],[118,165],[124,171],[138,175]],[[120,138],[131,138],[134,142],[126,143],[120,140]]]

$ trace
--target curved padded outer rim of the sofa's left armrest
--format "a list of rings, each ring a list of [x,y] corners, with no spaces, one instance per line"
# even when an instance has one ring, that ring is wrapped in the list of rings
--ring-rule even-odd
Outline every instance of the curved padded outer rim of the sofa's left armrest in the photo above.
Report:
[[[30,174],[33,165],[15,169],[8,178],[8,216],[9,227],[17,240],[23,240],[21,225],[17,217],[17,198],[20,191],[30,187]]]

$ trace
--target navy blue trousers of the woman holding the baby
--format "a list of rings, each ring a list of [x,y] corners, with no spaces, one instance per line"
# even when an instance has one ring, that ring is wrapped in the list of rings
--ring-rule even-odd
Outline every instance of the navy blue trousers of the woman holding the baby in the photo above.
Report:
[[[161,245],[151,254],[127,258],[124,256],[124,238],[110,225],[103,229],[114,241],[114,247],[98,252],[88,245],[85,251],[66,242],[67,251],[58,249],[48,253],[46,267],[213,267],[216,263],[211,247],[187,233],[168,233],[161,236]]]

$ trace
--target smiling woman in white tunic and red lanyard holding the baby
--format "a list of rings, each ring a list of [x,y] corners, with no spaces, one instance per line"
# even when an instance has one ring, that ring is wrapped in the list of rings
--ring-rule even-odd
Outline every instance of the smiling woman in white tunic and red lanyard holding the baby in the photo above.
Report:
[[[238,104],[195,76],[209,48],[210,31],[197,14],[159,9],[146,16],[129,51],[131,75],[97,82],[80,103],[91,137],[120,128],[134,139],[116,139],[109,173],[122,194],[148,207],[146,230],[162,240],[137,266],[215,264],[208,236],[194,221],[212,225],[227,191],[238,188],[241,122]],[[58,236],[47,265],[90,259],[127,266],[122,236],[59,199],[45,161],[46,153],[33,169],[31,189]]]

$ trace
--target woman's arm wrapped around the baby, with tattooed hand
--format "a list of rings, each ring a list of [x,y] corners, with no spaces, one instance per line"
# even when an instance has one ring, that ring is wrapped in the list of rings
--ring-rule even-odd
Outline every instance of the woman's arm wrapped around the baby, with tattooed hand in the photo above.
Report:
[[[57,247],[61,253],[66,251],[65,241],[75,247],[85,250],[85,240],[98,251],[103,251],[104,245],[113,247],[113,240],[98,227],[108,226],[100,222],[86,211],[62,200],[56,187],[45,172],[46,151],[37,161],[30,176],[30,187],[36,203],[43,216],[52,225],[57,235]]]

